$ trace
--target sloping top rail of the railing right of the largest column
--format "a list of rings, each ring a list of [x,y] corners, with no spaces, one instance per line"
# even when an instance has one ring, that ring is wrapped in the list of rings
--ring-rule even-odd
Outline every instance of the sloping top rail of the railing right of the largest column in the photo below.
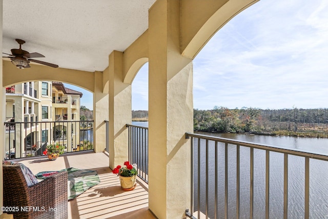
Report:
[[[309,157],[309,158],[313,158],[313,159],[317,159],[317,160],[328,161],[328,155],[323,154],[323,153],[313,153],[311,151],[301,151],[301,150],[297,150],[297,149],[283,148],[283,147],[273,146],[273,145],[255,144],[255,143],[251,143],[251,142],[232,140],[229,138],[215,137],[215,136],[194,134],[194,133],[187,132],[186,138],[189,138],[189,137],[197,137],[197,138],[202,138],[205,140],[211,140],[211,141],[216,141],[216,142],[240,145],[240,146],[244,146],[244,147],[269,150],[269,151],[278,152],[278,153],[287,153],[287,154],[296,155],[296,156],[303,156],[303,157]]]

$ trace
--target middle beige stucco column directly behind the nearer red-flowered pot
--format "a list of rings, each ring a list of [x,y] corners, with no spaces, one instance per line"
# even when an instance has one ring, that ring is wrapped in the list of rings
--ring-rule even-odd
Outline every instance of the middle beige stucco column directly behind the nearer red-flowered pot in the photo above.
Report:
[[[128,161],[128,128],[132,121],[131,85],[123,83],[123,53],[109,55],[109,166]]]

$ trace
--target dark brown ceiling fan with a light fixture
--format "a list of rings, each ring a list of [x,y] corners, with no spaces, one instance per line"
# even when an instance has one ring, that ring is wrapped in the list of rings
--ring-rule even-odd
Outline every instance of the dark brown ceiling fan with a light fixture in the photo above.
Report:
[[[11,49],[12,54],[3,52],[6,55],[10,55],[10,56],[3,56],[3,57],[10,58],[12,64],[14,64],[17,68],[19,68],[19,69],[30,68],[31,67],[29,65],[30,62],[50,66],[53,68],[58,68],[58,65],[55,65],[52,63],[46,63],[46,62],[39,61],[36,59],[32,59],[32,58],[40,58],[40,57],[45,57],[45,56],[40,53],[37,53],[37,52],[29,53],[28,51],[23,50],[22,45],[25,44],[25,41],[23,41],[22,39],[16,39],[16,42],[19,44],[19,49]]]

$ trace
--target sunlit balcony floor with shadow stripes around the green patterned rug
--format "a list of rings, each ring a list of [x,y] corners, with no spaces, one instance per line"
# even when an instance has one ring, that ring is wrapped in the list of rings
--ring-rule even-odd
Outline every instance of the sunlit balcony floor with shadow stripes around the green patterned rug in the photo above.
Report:
[[[155,218],[148,210],[148,185],[138,178],[134,190],[122,190],[119,177],[108,167],[107,152],[61,154],[56,161],[49,161],[46,156],[14,161],[25,164],[34,174],[70,167],[97,171],[100,184],[68,201],[68,218]]]

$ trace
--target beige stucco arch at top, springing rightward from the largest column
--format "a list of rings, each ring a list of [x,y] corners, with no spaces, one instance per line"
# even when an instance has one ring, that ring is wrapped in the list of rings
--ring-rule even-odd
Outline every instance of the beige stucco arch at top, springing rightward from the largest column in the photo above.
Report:
[[[259,0],[181,1],[181,54],[194,58],[235,15]],[[191,16],[192,15],[192,16]]]

